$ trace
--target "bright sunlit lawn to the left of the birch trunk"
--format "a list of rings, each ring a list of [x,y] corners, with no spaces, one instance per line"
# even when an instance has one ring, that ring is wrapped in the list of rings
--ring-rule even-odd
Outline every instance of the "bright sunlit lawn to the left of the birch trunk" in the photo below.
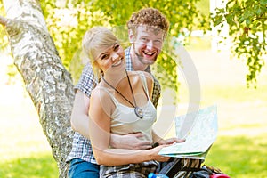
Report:
[[[0,177],[58,177],[51,147],[21,81],[0,84],[0,94]]]

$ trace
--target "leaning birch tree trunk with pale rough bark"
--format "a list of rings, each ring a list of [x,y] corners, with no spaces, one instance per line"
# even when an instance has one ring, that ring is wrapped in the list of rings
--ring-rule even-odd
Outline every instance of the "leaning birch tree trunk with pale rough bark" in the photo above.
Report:
[[[34,102],[44,134],[51,145],[60,177],[67,177],[65,159],[71,149],[73,131],[70,113],[74,90],[69,72],[53,44],[39,1],[4,0],[5,26],[14,63]]]

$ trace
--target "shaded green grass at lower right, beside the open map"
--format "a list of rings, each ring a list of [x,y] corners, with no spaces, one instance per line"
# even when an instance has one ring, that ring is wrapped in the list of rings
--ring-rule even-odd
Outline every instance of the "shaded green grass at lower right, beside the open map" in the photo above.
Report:
[[[206,165],[219,167],[231,177],[263,178],[267,175],[266,146],[263,135],[220,136],[206,157]]]

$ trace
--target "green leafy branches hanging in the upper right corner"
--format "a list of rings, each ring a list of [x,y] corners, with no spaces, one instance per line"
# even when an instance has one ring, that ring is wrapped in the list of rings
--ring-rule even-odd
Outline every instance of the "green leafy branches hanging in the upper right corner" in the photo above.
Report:
[[[230,0],[213,18],[214,27],[223,27],[224,22],[229,26],[232,52],[247,62],[247,86],[255,85],[266,58],[266,7],[266,0]]]

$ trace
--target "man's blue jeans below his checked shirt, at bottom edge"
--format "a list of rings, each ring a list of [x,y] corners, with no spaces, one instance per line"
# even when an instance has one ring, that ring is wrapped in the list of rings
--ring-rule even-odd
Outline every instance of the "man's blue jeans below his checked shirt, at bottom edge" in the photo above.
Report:
[[[69,178],[99,178],[99,165],[74,158],[69,165]]]

